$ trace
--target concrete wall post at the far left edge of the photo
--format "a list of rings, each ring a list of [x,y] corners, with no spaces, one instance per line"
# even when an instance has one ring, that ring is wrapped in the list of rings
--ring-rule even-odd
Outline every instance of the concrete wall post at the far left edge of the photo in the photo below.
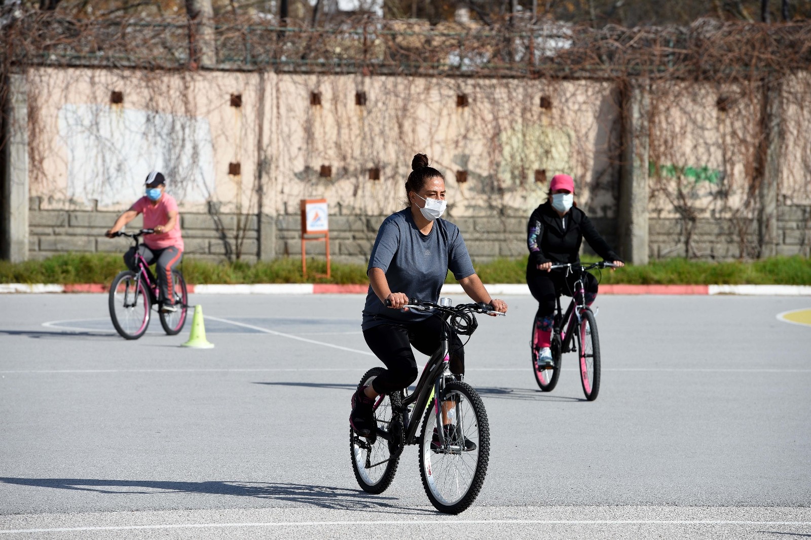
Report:
[[[6,84],[0,258],[19,263],[28,259],[28,88],[25,75],[8,75]]]

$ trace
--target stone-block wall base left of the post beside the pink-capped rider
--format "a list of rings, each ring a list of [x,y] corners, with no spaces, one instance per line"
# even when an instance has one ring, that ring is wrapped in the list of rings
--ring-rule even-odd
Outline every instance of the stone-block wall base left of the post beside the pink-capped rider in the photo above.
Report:
[[[112,252],[124,253],[131,246],[128,238],[105,238],[104,234],[118,217],[118,212],[92,210],[41,210],[39,198],[30,204],[28,258],[45,259],[58,253]],[[380,224],[386,216],[330,216],[330,255],[340,263],[367,264],[371,247]],[[462,232],[476,262],[500,257],[526,255],[527,216],[450,218]],[[247,221],[246,221],[247,220]],[[267,242],[268,253],[277,257],[301,256],[301,217],[298,214],[269,219],[271,226],[264,234],[272,235]],[[600,234],[618,249],[616,220],[594,218]],[[141,216],[135,218],[128,230],[143,225]],[[256,216],[235,214],[202,214],[181,212],[181,228],[185,254],[195,259],[220,262],[240,259],[253,263],[262,257],[260,229]],[[237,231],[240,231],[238,234]],[[307,254],[324,256],[324,242],[307,242]],[[584,246],[586,253],[592,254]]]

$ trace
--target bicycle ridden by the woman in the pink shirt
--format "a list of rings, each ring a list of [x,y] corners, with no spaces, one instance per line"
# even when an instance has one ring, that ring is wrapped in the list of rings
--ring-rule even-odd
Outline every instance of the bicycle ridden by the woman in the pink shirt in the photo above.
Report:
[[[157,280],[149,270],[149,265],[138,252],[139,238],[151,234],[154,229],[140,229],[137,233],[118,231],[113,236],[126,236],[135,241],[135,264],[137,272],[124,270],[115,276],[109,288],[109,317],[113,319],[116,331],[125,339],[137,340],[149,326],[152,306],[159,306],[161,291]],[[177,311],[158,310],[161,326],[169,336],[174,336],[186,324],[188,294],[186,280],[179,270],[172,271],[172,291]]]

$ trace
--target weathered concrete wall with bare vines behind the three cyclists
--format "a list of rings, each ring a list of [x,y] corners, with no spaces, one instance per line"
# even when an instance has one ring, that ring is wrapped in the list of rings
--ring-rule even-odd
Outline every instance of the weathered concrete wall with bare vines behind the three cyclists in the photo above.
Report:
[[[120,251],[101,233],[158,168],[180,203],[189,255],[298,255],[299,200],[326,197],[333,255],[364,263],[380,221],[402,208],[416,152],[444,171],[448,219],[474,259],[525,254],[526,218],[561,172],[636,262],[762,256],[765,242],[776,253],[809,251],[807,75],[768,95],[641,83],[630,100],[611,84],[571,80],[37,68],[19,82],[32,257]]]

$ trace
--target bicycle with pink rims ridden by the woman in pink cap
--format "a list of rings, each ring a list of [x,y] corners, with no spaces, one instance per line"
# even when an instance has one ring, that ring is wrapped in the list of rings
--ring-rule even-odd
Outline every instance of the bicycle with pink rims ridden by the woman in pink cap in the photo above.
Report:
[[[577,272],[578,276],[577,281],[574,283],[572,301],[569,302],[569,307],[564,315],[561,315],[560,310],[560,294],[556,298],[556,311],[550,346],[554,366],[551,368],[539,369],[540,346],[535,341],[535,328],[538,321],[533,321],[530,348],[532,350],[532,371],[535,375],[535,382],[538,383],[543,392],[551,392],[560,376],[560,362],[563,353],[577,352],[583,393],[588,401],[594,401],[600,391],[600,343],[594,313],[592,313],[589,306],[586,306],[586,290],[583,288],[582,272],[588,272],[594,268],[616,268],[616,264],[607,261],[600,261],[588,266],[582,266],[581,264],[552,264],[551,270],[557,268],[567,268],[567,276],[569,272]]]

